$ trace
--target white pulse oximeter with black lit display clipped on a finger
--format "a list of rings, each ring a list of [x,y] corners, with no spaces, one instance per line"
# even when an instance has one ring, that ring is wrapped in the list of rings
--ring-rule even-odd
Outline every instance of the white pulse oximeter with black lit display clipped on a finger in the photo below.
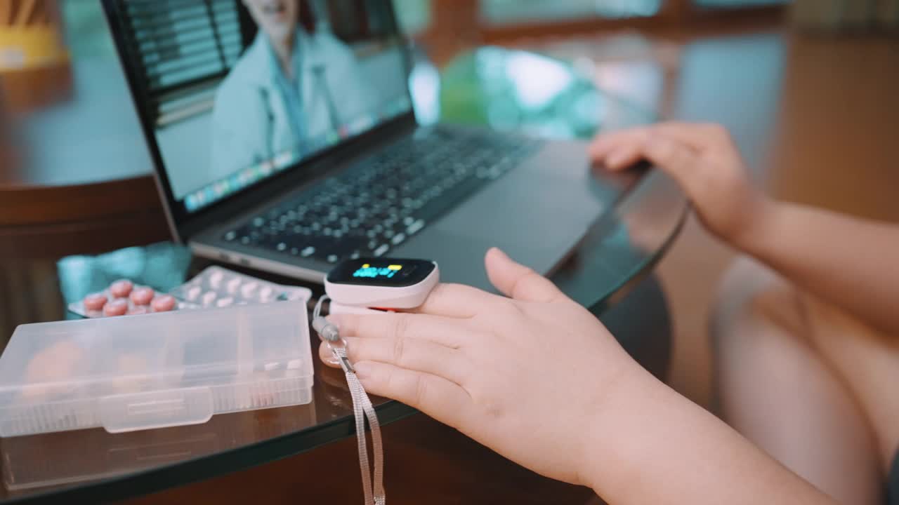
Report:
[[[439,281],[434,261],[360,258],[343,261],[328,272],[325,293],[344,306],[414,308]]]

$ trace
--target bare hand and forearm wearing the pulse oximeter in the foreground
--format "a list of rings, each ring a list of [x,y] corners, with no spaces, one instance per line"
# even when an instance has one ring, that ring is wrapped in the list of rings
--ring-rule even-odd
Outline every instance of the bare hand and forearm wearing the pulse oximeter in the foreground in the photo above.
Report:
[[[643,144],[616,143],[631,162]],[[721,219],[707,226],[744,227]],[[504,296],[443,284],[413,313],[329,317],[369,393],[610,503],[832,503],[645,371],[548,279],[497,249],[485,265]]]

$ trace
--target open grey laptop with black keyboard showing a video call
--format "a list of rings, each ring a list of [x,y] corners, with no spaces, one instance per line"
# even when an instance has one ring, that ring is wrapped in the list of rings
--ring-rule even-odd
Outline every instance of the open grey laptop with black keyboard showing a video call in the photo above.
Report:
[[[172,233],[199,256],[314,282],[421,258],[489,289],[488,248],[547,274],[634,184],[583,142],[419,124],[389,0],[103,7]]]

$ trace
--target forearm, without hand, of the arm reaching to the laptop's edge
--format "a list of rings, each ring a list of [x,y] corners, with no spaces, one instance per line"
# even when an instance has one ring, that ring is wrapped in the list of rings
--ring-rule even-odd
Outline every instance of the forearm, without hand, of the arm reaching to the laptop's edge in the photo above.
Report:
[[[768,204],[737,241],[798,287],[899,334],[899,226],[796,204]]]

